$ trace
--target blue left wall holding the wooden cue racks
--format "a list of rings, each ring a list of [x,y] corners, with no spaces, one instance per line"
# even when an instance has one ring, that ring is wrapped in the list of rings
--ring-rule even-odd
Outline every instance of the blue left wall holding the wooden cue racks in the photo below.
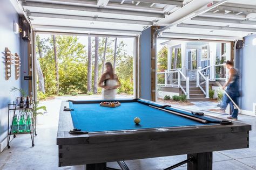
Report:
[[[10,1],[1,1],[0,5],[0,143],[7,137],[8,103],[19,93],[10,93],[11,87],[19,88],[20,79],[15,80],[15,66],[11,66],[11,77],[5,80],[4,51],[8,47],[12,54],[21,53],[19,34],[14,34],[14,22],[18,23],[18,14]]]

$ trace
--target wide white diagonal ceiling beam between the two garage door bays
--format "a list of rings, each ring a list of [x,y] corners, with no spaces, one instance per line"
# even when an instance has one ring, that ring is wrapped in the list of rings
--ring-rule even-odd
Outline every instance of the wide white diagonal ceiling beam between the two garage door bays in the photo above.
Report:
[[[208,1],[201,1],[201,0],[191,1],[187,5],[183,6],[183,8],[180,8],[177,11],[174,11],[173,13],[171,13],[169,16],[166,16],[164,19],[159,20],[159,22],[157,22],[156,24],[159,24],[159,25],[168,24],[163,29],[160,29],[159,32],[169,29],[170,27],[180,24],[190,18],[201,15],[202,13],[205,13],[213,9],[216,6],[227,2],[227,0],[222,0],[216,4],[213,4],[212,2],[207,3]]]

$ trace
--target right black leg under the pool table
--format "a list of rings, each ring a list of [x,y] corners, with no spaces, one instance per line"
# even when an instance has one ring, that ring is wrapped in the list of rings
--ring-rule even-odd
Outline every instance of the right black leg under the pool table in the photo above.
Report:
[[[187,154],[187,158],[194,158],[187,163],[187,170],[212,170],[212,152]]]

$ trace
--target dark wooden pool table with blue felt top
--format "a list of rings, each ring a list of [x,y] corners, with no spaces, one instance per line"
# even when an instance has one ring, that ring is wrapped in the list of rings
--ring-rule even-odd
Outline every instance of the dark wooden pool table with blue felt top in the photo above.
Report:
[[[212,152],[249,147],[251,125],[152,101],[63,101],[58,123],[59,166],[106,169],[106,162],[187,154],[187,169],[212,169]],[[64,111],[64,108],[69,108]],[[136,125],[134,117],[141,122]],[[71,134],[72,129],[85,134]]]

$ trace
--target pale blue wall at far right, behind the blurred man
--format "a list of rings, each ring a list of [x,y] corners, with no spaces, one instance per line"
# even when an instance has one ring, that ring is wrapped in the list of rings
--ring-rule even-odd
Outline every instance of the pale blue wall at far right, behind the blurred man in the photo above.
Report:
[[[236,66],[241,74],[240,107],[249,111],[252,111],[253,103],[256,103],[256,46],[252,45],[254,38],[256,35],[245,37],[244,47],[236,53]]]

